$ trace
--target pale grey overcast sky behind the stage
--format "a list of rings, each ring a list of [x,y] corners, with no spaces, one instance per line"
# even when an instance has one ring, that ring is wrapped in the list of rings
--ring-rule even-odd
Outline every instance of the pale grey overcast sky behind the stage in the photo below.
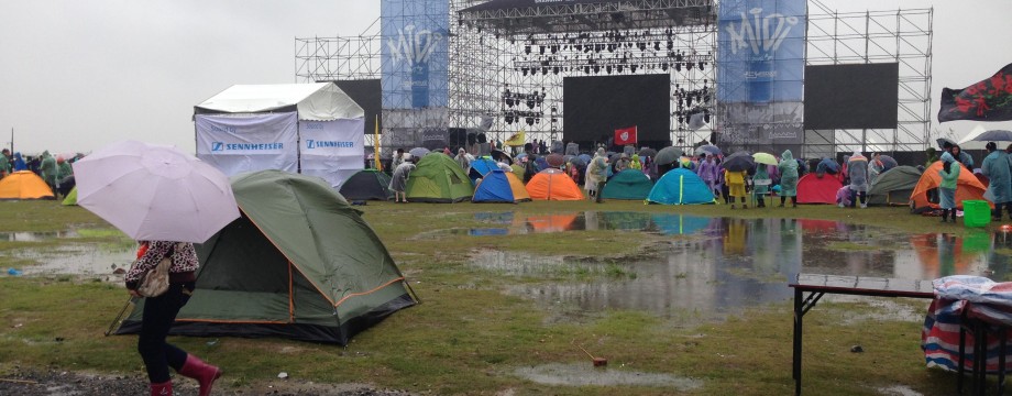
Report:
[[[935,8],[933,129],[943,87],[1012,63],[1010,0],[823,0],[840,11]],[[0,145],[90,152],[132,139],[195,151],[193,107],[235,84],[295,82],[295,37],[354,35],[378,0],[4,0]],[[989,123],[1012,129],[1012,123]]]

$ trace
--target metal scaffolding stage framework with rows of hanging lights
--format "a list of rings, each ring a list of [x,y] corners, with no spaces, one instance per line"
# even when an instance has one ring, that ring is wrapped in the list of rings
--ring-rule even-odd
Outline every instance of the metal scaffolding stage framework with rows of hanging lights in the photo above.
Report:
[[[406,18],[413,13],[428,19],[437,15],[417,10],[415,1],[384,0],[382,3],[384,15],[402,21],[398,29],[383,31],[383,21],[377,20],[366,32],[354,36],[296,38],[296,81],[397,76],[395,78],[408,90],[417,86],[417,81],[411,80],[410,69],[393,70],[392,63],[403,62],[403,58],[383,53],[391,48],[405,50],[406,44],[417,38],[405,35],[410,32],[404,28],[413,25]],[[443,8],[448,18],[447,32],[440,32],[447,46],[446,50],[438,46],[432,50],[436,56],[446,56],[448,62],[446,105],[436,106],[443,112],[407,110],[411,108],[407,103],[413,100],[411,94],[398,96],[384,89],[381,144],[385,155],[395,146],[477,143],[473,139],[475,134],[482,134],[490,142],[505,141],[519,130],[527,132],[528,141],[561,140],[569,135],[566,132],[579,133],[565,131],[563,122],[562,82],[566,77],[646,74],[670,75],[668,132],[673,145],[689,147],[716,138],[716,143],[728,147],[774,148],[769,142],[749,142],[740,135],[722,136],[726,124],[722,113],[726,113],[732,103],[718,101],[716,95],[719,81],[715,65],[722,62],[718,58],[718,6],[724,2],[442,0],[442,3],[449,7]],[[801,139],[789,145],[800,150],[795,156],[822,156],[853,150],[925,148],[932,138],[932,10],[838,13],[816,0],[806,1],[806,6],[804,65],[899,64],[898,123],[888,129],[804,129]],[[428,38],[419,40],[421,44],[428,43]],[[428,84],[427,88],[443,89],[439,84]],[[415,92],[415,96],[419,94]],[[395,124],[387,127],[387,121],[395,121],[388,111],[388,105],[394,101],[399,101],[402,114],[427,113],[439,118],[425,121],[429,116],[415,117],[410,120],[411,127],[432,124],[437,128],[398,130]],[[430,103],[429,108],[433,106]],[[403,117],[397,120],[403,121]],[[447,133],[437,133],[438,128],[444,128]],[[428,138],[425,131],[430,132]],[[371,132],[365,134],[367,146],[375,144]],[[464,138],[466,132],[472,139]],[[581,148],[590,150],[587,146]]]

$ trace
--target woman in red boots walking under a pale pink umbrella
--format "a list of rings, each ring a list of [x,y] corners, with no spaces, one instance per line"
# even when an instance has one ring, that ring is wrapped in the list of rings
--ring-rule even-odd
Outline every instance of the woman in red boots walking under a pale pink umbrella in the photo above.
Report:
[[[77,204],[139,241],[138,261],[123,279],[131,301],[144,298],[138,352],[151,394],[173,394],[172,367],[197,380],[200,396],[209,395],[222,371],[165,339],[195,293],[199,264],[194,243],[240,216],[229,178],[190,154],[141,142],[113,144],[73,167]],[[168,265],[164,288],[141,287],[163,260]]]

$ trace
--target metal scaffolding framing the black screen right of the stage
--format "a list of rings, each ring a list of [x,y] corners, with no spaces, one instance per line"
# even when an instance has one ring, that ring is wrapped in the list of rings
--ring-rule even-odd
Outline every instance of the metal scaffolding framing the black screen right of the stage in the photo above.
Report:
[[[933,9],[839,13],[810,1],[806,65],[899,64],[897,129],[806,130],[803,155],[921,151],[931,142]]]

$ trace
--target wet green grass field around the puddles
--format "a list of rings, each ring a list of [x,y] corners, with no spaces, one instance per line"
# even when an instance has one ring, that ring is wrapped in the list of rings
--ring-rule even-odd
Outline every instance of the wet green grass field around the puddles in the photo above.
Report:
[[[223,391],[278,381],[276,375],[287,372],[292,381],[367,383],[440,395],[789,394],[793,392],[789,301],[719,322],[697,323],[625,310],[550,320],[550,312],[504,289],[520,283],[614,274],[559,273],[547,279],[530,279],[469,265],[470,254],[479,249],[622,261],[649,255],[658,243],[675,237],[604,230],[461,237],[452,230],[490,227],[475,220],[477,212],[513,211],[522,217],[592,210],[828,219],[881,226],[893,233],[969,232],[961,226],[941,224],[937,218],[911,216],[905,208],[730,210],[727,206],[666,207],[626,201],[370,202],[358,208],[424,304],[393,315],[356,336],[346,348],[279,339],[174,338],[173,342],[226,367]],[[84,232],[79,238],[54,242],[0,242],[0,267],[32,265],[12,258],[25,249],[129,243],[79,207],[61,207],[53,201],[0,202],[0,232],[67,229]],[[96,279],[0,276],[0,377],[33,367],[142,376],[143,364],[134,352],[136,339],[102,337],[124,300],[121,286]],[[805,316],[804,388],[820,395],[876,395],[895,387],[924,395],[953,394],[955,376],[924,369],[920,320],[888,315],[897,307],[923,312],[926,301],[901,299],[883,308],[870,299],[831,300]],[[574,340],[595,355],[606,356],[608,367],[578,370],[573,382],[624,372],[684,381],[669,386],[564,386],[542,385],[519,375],[542,365],[590,367],[590,359],[573,345]],[[864,353],[850,352],[857,344],[862,345]]]

